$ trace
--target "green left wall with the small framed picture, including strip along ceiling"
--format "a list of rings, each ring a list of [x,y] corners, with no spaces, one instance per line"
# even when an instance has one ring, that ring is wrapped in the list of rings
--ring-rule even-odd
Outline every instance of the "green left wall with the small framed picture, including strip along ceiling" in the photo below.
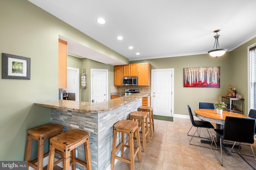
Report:
[[[31,58],[30,80],[0,79],[0,160],[24,160],[27,130],[50,123],[50,109],[33,103],[58,99],[59,35],[129,61],[27,0],[1,0],[0,21],[1,55]],[[36,154],[32,152],[32,157]]]

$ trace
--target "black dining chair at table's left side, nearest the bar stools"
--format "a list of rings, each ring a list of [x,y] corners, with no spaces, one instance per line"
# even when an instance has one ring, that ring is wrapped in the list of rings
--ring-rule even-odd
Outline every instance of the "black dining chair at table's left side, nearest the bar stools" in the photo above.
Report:
[[[204,138],[204,137],[201,137],[201,136],[200,136],[200,133],[199,133],[199,136],[195,136],[195,134],[196,134],[196,132],[198,132],[198,128],[206,128],[206,129],[207,129],[207,132],[208,132],[208,134],[209,134],[209,136],[210,136],[210,138],[206,138],[206,139],[211,139],[212,132],[210,131],[210,133],[211,133],[211,134],[210,134],[210,133],[209,133],[209,130],[210,130],[210,128],[214,129],[214,126],[213,126],[210,122],[207,122],[207,121],[195,121],[195,120],[194,120],[194,117],[193,117],[193,113],[192,113],[191,108],[190,108],[189,105],[188,105],[188,113],[189,113],[189,116],[190,116],[190,121],[191,121],[191,123],[192,123],[192,127],[193,127],[193,126],[196,127],[196,131],[194,132],[192,138],[193,138],[193,137]],[[191,128],[190,128],[190,129],[191,129]],[[192,138],[190,139],[189,144],[191,144]],[[214,141],[214,143],[215,143],[215,141]],[[191,145],[201,146],[201,145],[196,145],[196,144],[191,144]],[[216,146],[216,148],[217,148],[216,143],[215,143],[215,146]],[[206,146],[201,146],[201,147],[209,148],[209,147],[206,147]]]

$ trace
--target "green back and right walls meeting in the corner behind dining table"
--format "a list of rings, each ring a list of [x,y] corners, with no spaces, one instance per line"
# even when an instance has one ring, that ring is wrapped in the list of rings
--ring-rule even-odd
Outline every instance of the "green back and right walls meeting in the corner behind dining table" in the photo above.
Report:
[[[227,94],[228,85],[234,85],[237,93],[244,98],[244,114],[248,115],[248,51],[247,47],[256,43],[256,38],[215,59],[208,54],[182,57],[167,57],[130,61],[130,63],[151,64],[151,69],[174,68],[174,114],[188,115],[187,105],[198,109],[199,102],[221,101]],[[220,66],[220,88],[183,87],[183,69],[187,67]],[[227,102],[227,101],[225,101]],[[241,102],[236,105],[242,109]]]

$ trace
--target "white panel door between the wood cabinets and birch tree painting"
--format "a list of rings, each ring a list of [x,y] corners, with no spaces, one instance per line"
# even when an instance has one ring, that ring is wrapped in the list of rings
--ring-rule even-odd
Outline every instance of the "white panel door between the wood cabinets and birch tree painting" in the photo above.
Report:
[[[152,69],[152,105],[154,115],[173,116],[174,69]]]

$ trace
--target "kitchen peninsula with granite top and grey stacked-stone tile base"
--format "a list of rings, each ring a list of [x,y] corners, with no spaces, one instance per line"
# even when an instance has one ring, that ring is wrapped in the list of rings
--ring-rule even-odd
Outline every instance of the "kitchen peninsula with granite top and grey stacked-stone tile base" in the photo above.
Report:
[[[121,119],[129,119],[129,114],[138,111],[142,97],[147,95],[136,93],[100,103],[56,100],[34,105],[50,107],[52,123],[64,125],[64,131],[79,128],[88,132],[92,169],[106,170],[111,161],[113,125]],[[77,152],[78,158],[85,160],[84,146],[79,146]]]

